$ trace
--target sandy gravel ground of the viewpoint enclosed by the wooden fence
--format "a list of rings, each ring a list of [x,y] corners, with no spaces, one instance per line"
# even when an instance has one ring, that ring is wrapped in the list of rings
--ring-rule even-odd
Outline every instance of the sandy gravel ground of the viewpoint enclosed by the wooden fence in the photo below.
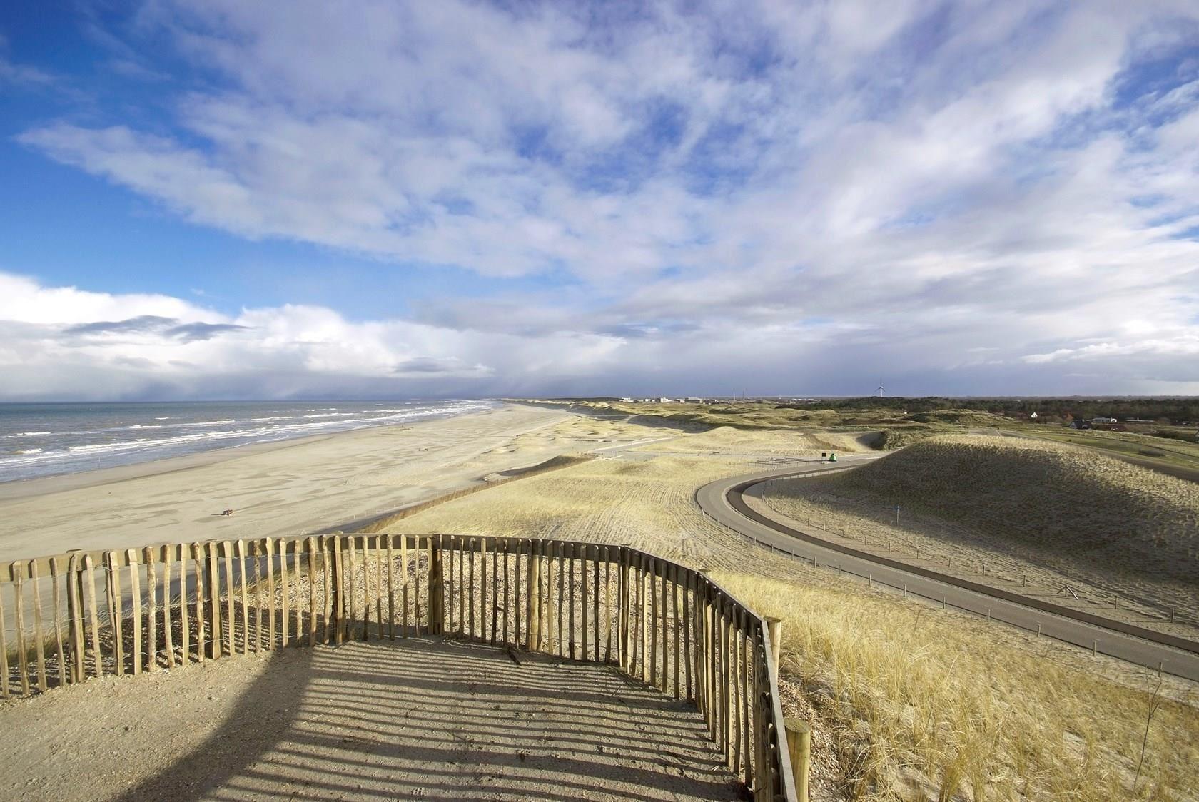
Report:
[[[23,800],[733,800],[699,714],[611,667],[414,638],[0,705]],[[10,742],[13,740],[11,738]]]

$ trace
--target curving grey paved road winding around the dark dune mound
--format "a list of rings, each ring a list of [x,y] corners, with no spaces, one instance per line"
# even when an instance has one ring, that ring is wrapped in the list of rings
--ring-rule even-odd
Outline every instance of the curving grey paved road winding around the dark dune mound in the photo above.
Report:
[[[700,488],[695,493],[695,501],[705,513],[718,523],[775,551],[791,554],[891,587],[906,589],[908,593],[978,615],[989,615],[996,621],[1004,621],[1030,632],[1041,632],[1042,635],[1084,649],[1092,649],[1102,655],[1199,681],[1199,653],[1195,653],[1199,652],[1199,644],[1194,641],[1143,631],[1149,633],[1146,638],[1173,640],[1176,646],[1167,643],[1153,643],[1120,632],[1120,629],[1129,628],[1140,629],[1121,621],[1048,605],[1041,599],[1020,597],[1000,589],[939,574],[921,566],[870,555],[825,541],[820,537],[820,530],[815,527],[806,527],[801,531],[796,529],[799,524],[795,521],[784,523],[763,515],[760,512],[751,509],[741,499],[742,494],[753,494],[754,486],[766,480],[844,470],[852,462],[857,460],[846,460],[836,469],[826,463],[813,463],[806,469],[790,468],[719,480]],[[1024,599],[1024,603],[1013,599]],[[1038,605],[1058,608],[1061,614],[1056,615],[1044,609],[1036,609]]]

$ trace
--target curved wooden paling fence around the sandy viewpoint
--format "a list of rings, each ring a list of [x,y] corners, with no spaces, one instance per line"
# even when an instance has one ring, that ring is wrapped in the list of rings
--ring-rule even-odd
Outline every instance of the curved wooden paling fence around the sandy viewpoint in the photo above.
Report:
[[[704,573],[637,549],[327,535],[0,571],[0,698],[289,645],[446,635],[617,665],[694,702],[754,798],[795,800],[765,622]]]

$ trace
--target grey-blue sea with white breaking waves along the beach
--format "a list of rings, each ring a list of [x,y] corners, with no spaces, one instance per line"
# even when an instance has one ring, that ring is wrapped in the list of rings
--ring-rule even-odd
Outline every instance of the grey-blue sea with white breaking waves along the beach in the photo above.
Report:
[[[488,400],[0,404],[0,482],[495,406]]]

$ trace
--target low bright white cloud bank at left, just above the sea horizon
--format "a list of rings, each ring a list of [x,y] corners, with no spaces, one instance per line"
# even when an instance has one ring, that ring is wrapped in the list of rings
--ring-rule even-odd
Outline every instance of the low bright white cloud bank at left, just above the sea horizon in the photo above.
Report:
[[[0,399],[469,392],[507,375],[570,380],[620,340],[519,337],[283,306],[225,315],[164,295],[48,288],[0,273]],[[602,368],[601,368],[602,369]],[[215,390],[213,390],[215,388]]]

